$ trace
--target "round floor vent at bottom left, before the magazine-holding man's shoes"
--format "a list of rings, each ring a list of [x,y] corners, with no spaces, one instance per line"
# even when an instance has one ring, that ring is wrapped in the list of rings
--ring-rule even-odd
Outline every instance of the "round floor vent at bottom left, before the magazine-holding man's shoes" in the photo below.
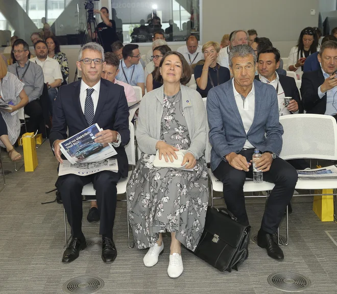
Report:
[[[62,290],[66,293],[93,294],[104,287],[100,278],[82,276],[70,279],[63,284]]]

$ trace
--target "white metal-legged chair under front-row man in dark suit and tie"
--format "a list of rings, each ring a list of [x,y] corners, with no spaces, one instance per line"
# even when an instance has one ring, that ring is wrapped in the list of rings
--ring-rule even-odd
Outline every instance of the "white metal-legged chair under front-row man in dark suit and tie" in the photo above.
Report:
[[[130,141],[125,146],[125,152],[128,157],[129,165],[136,165],[136,153],[135,153],[135,133],[134,133],[134,127],[131,122],[129,122],[129,131],[130,131]],[[121,178],[117,183],[117,194],[124,194],[127,191],[127,183],[131,177],[132,171],[129,171],[127,178]],[[82,195],[85,200],[85,196],[94,196],[96,195],[96,190],[93,188],[92,183],[89,183],[83,187]],[[95,201],[95,200],[90,200]],[[64,228],[65,228],[65,248],[68,244],[68,237],[67,237],[67,220],[66,220],[66,214],[65,210],[63,209],[64,213]],[[128,236],[129,234],[129,217],[128,219]],[[129,247],[130,247],[130,239],[129,239]],[[131,248],[131,247],[130,247]]]

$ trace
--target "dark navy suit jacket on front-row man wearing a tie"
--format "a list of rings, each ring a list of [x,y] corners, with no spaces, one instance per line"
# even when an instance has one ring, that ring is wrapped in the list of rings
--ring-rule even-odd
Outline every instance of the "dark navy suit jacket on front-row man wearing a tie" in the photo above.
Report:
[[[77,81],[60,87],[58,91],[49,137],[52,146],[55,140],[74,136],[89,127],[81,108],[80,88],[81,81]],[[103,130],[113,130],[121,135],[121,145],[115,148],[117,155],[113,158],[117,158],[122,177],[127,177],[128,158],[124,145],[130,141],[129,108],[123,86],[101,79],[99,101],[92,121],[92,124],[95,123]]]

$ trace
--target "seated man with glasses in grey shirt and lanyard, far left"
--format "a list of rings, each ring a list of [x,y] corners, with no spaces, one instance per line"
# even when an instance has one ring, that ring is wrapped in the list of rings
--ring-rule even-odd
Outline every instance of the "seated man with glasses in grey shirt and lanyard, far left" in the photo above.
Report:
[[[8,71],[24,83],[29,102],[25,106],[25,113],[30,116],[27,120],[27,131],[36,132],[40,129],[43,119],[40,96],[43,90],[43,71],[40,65],[29,60],[29,45],[22,39],[13,44],[13,55],[16,63],[8,67]]]

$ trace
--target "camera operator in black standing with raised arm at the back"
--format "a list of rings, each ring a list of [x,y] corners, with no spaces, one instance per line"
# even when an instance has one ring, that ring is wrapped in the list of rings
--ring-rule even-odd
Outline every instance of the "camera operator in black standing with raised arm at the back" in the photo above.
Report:
[[[109,19],[109,10],[106,7],[102,7],[101,10],[94,9],[93,12],[100,14],[103,21],[97,25],[97,29],[91,34],[91,38],[99,43],[98,31],[103,42],[104,52],[111,52],[111,44],[119,40],[116,33],[116,23],[114,20]]]

